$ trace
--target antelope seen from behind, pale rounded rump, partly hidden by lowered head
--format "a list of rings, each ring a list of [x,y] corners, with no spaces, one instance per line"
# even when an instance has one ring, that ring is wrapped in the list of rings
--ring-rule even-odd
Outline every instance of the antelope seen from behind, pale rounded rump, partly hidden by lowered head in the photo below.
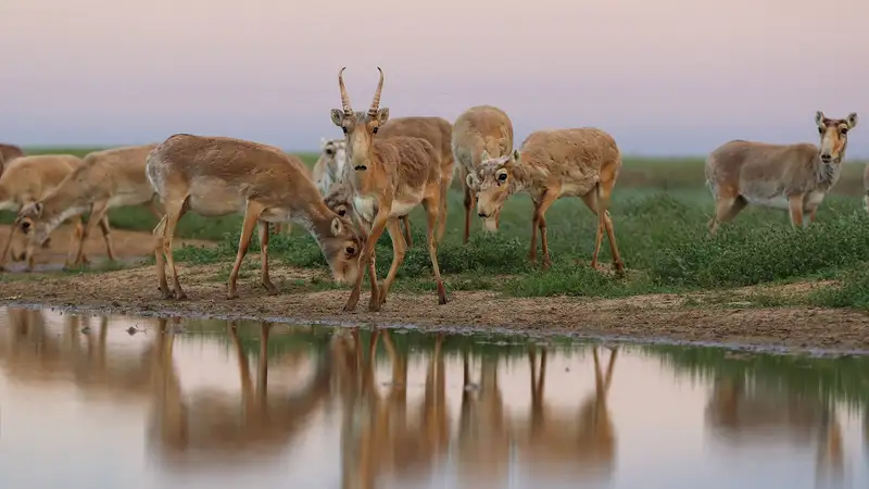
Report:
[[[475,206],[476,193],[469,186],[468,175],[475,174],[482,163],[483,151],[490,158],[509,154],[513,149],[513,123],[507,114],[492,105],[477,105],[463,112],[453,124],[451,138],[453,154],[462,170],[462,187],[465,189],[464,243],[470,234],[470,210]],[[498,230],[500,213],[483,220],[483,229]]]

